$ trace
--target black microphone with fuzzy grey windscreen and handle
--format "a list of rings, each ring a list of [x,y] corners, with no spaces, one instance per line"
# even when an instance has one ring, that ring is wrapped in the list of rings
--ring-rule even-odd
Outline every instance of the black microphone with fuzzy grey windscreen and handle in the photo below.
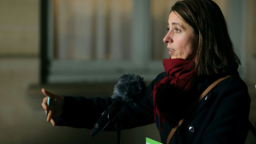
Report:
[[[145,90],[146,86],[142,77],[132,73],[121,76],[111,96],[113,102],[104,110],[102,117],[95,123],[91,131],[92,137],[97,132],[103,131],[110,122],[116,119],[123,105],[138,103],[145,96]]]

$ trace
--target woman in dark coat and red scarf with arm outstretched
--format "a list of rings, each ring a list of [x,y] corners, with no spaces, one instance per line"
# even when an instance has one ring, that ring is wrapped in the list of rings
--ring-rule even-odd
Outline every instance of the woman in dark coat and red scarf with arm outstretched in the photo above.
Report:
[[[237,72],[239,58],[220,7],[211,0],[176,2],[168,17],[164,43],[171,56],[164,59],[165,72],[147,87],[140,105],[121,109],[122,128],[156,123],[161,141],[166,143],[172,128],[185,118],[169,143],[244,143],[249,132],[250,98]],[[197,106],[192,105],[212,82],[227,75],[232,77],[220,81]],[[54,100],[47,117],[54,126],[92,128],[111,104],[111,98],[42,92]],[[42,103],[44,109],[46,101],[47,97]],[[114,130],[114,126],[107,130]]]

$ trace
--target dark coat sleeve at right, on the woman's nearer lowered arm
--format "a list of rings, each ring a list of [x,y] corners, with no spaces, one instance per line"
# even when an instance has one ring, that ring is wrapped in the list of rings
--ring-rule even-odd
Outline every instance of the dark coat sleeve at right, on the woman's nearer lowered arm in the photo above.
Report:
[[[249,132],[250,98],[247,86],[238,77],[229,78],[213,92],[220,103],[206,128],[202,143],[244,143]]]

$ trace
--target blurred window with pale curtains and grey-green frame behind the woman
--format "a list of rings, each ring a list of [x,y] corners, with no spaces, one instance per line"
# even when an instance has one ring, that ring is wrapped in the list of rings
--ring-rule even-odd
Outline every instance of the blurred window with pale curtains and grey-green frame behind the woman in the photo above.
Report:
[[[171,5],[168,0],[49,1],[47,81],[116,81],[127,72],[152,81],[168,58],[162,39]]]

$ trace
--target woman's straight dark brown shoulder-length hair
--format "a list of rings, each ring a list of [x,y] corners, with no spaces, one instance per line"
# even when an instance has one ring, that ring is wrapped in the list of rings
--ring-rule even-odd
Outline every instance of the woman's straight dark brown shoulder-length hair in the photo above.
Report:
[[[171,12],[178,13],[198,35],[195,67],[199,75],[225,74],[238,68],[240,61],[216,2],[183,0],[176,2]]]

